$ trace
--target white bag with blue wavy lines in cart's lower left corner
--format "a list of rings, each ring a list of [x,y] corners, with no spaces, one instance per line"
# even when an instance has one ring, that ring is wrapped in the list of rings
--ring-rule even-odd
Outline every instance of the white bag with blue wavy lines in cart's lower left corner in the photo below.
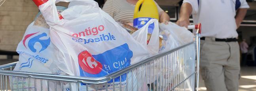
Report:
[[[33,56],[25,52],[22,52],[19,54],[19,62],[16,64],[16,67],[13,70],[23,71],[23,72],[52,74],[51,70],[48,69],[46,66],[44,66],[44,63],[41,63],[40,60],[34,58]],[[59,81],[54,82],[52,80],[49,80],[49,84],[48,84],[48,80],[42,80],[42,82],[41,80],[42,79],[17,77],[17,76],[9,77],[9,82],[12,85],[13,91],[18,91],[17,89],[19,89],[19,91],[23,89],[24,91],[41,91],[41,89],[43,91],[47,91],[48,86],[50,91],[54,91],[55,82],[56,82],[56,89],[62,89],[61,83]]]

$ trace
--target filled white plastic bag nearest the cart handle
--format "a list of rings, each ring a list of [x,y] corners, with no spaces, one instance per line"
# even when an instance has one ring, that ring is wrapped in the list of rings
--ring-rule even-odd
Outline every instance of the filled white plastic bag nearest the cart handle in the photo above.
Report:
[[[163,38],[162,46],[159,48],[160,54],[164,53],[164,52],[168,52],[168,51],[170,51],[174,48],[177,48],[179,46],[186,45],[193,41],[193,37],[194,37],[193,33],[188,31],[184,27],[180,27],[180,26],[174,24],[173,22],[169,22],[169,24],[161,23],[161,24],[159,24],[159,29],[160,29],[159,34]],[[187,74],[183,74],[182,71],[180,71],[180,70],[175,70],[175,69],[182,69],[182,67],[184,66],[184,57],[185,56],[184,56],[183,52],[180,52],[180,56],[178,56],[178,57],[167,56],[167,59],[169,59],[171,61],[167,61],[166,64],[173,65],[173,66],[169,67],[168,69],[170,69],[170,70],[168,72],[166,72],[171,75],[171,77],[172,77],[171,80],[173,80],[178,75],[187,75]],[[164,65],[164,64],[162,63],[161,65]],[[154,68],[154,69],[163,69],[163,68],[165,68],[165,67],[163,66],[161,68]],[[163,79],[166,79],[166,78],[168,78],[168,77],[163,76]],[[162,80],[160,80],[159,82],[161,83],[161,81]],[[163,83],[165,83],[165,81],[166,80],[163,80]],[[171,86],[171,85],[172,85],[172,83],[167,86]],[[158,89],[162,89],[161,86],[159,86],[159,85],[154,85],[154,87],[158,88]],[[163,87],[163,88],[165,88],[165,87]]]

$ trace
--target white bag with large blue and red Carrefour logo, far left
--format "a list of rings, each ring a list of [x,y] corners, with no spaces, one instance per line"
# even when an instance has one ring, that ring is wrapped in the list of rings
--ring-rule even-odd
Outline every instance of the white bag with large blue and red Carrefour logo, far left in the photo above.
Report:
[[[28,25],[28,28],[24,34],[24,37],[22,41],[17,46],[17,52],[19,54],[26,53],[31,55],[31,57],[37,59],[40,61],[43,65],[47,63],[49,60],[51,60],[51,57],[49,55],[53,55],[53,46],[50,41],[49,37],[49,29],[42,28],[39,26],[34,26],[34,22],[32,22],[30,25]],[[19,63],[23,64],[23,62],[27,62],[28,56],[22,57],[23,55],[20,55]],[[23,59],[26,58],[26,59]],[[17,63],[16,67],[22,66],[18,65]],[[25,69],[26,67],[24,67]],[[32,69],[36,70],[36,69]]]

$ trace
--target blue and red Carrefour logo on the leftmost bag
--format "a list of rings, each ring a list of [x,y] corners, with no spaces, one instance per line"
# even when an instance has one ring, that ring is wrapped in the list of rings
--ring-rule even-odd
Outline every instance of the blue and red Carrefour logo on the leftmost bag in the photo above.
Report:
[[[39,52],[42,52],[43,50],[45,50],[49,45],[50,45],[50,37],[47,39],[43,39],[45,37],[47,37],[46,33],[42,33],[39,35],[36,35],[32,38],[30,38],[32,35],[37,34],[36,33],[30,33],[28,35],[26,35],[23,39],[23,45],[27,48],[27,46],[25,45],[26,41],[28,40],[28,48],[32,51],[32,52],[37,52],[36,48],[34,48],[35,43],[40,43],[40,45],[42,45],[42,48],[39,50]]]

